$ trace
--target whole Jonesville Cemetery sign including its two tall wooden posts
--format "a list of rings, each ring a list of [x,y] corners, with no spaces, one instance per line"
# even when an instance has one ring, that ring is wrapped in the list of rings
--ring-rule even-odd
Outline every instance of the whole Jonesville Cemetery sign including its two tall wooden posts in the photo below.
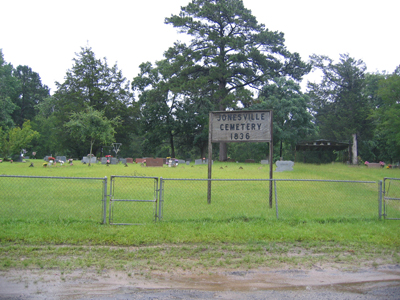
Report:
[[[209,115],[208,191],[211,203],[212,143],[269,142],[269,178],[273,160],[272,110],[214,111]],[[272,207],[272,180],[269,182],[269,206]]]

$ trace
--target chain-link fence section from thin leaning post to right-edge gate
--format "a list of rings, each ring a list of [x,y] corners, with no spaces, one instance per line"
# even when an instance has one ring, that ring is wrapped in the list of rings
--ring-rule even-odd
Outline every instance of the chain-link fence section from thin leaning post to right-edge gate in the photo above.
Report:
[[[277,179],[280,219],[377,219],[379,185],[375,181]]]

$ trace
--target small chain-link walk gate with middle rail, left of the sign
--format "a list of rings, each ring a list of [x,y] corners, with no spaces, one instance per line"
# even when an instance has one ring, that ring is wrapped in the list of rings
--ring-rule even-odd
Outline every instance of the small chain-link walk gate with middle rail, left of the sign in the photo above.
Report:
[[[158,177],[111,176],[109,224],[156,221],[158,194]]]

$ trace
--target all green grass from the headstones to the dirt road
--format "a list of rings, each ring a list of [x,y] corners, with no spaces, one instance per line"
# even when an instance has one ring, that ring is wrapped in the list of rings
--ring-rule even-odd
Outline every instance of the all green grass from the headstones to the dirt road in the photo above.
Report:
[[[0,175],[100,179],[107,176],[108,190],[111,175],[168,179],[207,177],[207,166],[146,168],[136,164],[128,167],[96,164],[88,167],[75,162],[74,166],[44,168],[41,160],[30,162],[35,167],[28,167],[29,163],[3,162],[0,164]],[[259,164],[216,162],[213,166],[214,179],[268,179],[268,176],[269,167]],[[400,170],[296,163],[294,171],[274,173],[274,177],[377,182],[384,177],[399,178]],[[124,251],[120,253],[121,256],[111,250],[105,254],[96,245],[144,247],[142,249],[147,249],[145,252],[148,257],[154,257],[154,261],[159,261],[167,254],[171,255],[172,261],[179,261],[182,255],[190,256],[193,249],[203,247],[208,249],[205,253],[209,254],[209,258],[202,258],[205,260],[204,266],[209,267],[215,264],[215,255],[227,251],[226,247],[238,256],[247,255],[249,259],[239,259],[241,263],[238,263],[238,259],[231,259],[231,264],[227,261],[225,264],[241,267],[244,264],[247,268],[257,261],[261,265],[271,263],[261,258],[265,251],[276,255],[275,262],[279,262],[282,253],[299,247],[311,249],[312,253],[323,252],[326,254],[324,257],[331,257],[333,253],[335,259],[343,251],[351,249],[351,255],[355,253],[357,257],[354,259],[358,262],[400,262],[400,223],[398,220],[379,220],[376,183],[278,181],[277,219],[275,199],[272,209],[268,205],[267,181],[215,181],[212,184],[212,203],[207,204],[206,181],[166,180],[163,221],[153,221],[155,204],[152,202],[115,202],[112,214],[115,223],[145,224],[118,226],[100,224],[103,208],[100,179],[82,181],[1,177],[1,268],[37,267],[38,253],[48,258],[48,263],[42,263],[44,268],[66,268],[65,260],[59,260],[64,255],[78,255],[81,258],[79,262],[68,260],[68,268],[80,267],[85,261],[89,261],[90,265],[94,258],[102,262],[100,265],[106,263],[113,267],[119,264],[118,259],[124,266],[132,259],[123,258],[126,254]],[[152,199],[154,181],[140,180],[116,178],[113,198]],[[396,194],[400,191],[398,183],[391,182],[391,197],[400,197],[400,194]],[[399,217],[397,203],[393,201],[393,205],[388,206],[388,215]],[[107,221],[108,209],[109,203]],[[58,253],[61,250],[54,248],[57,245],[67,247],[67,254]],[[165,250],[170,249],[171,245],[181,251],[175,253]],[[86,257],[82,246],[89,246],[92,256]],[[165,248],[167,254],[165,251],[156,253],[154,246]],[[258,253],[256,257],[253,257],[254,253]],[[115,255],[119,258],[113,259]],[[143,257],[138,258],[139,261],[148,261],[145,254],[140,255]],[[21,256],[29,258],[24,260],[25,264],[21,262]],[[308,256],[307,259],[313,261],[314,258]],[[301,262],[289,260],[287,263]],[[165,263],[162,265],[166,268],[169,266]]]

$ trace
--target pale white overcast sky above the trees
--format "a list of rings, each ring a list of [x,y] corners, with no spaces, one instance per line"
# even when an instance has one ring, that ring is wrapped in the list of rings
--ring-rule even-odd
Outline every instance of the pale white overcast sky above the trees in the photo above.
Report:
[[[130,81],[142,62],[162,59],[184,40],[165,17],[189,0],[0,0],[0,48],[14,67],[27,65],[55,90],[81,47],[117,63]],[[392,73],[399,59],[399,0],[243,0],[259,23],[285,34],[289,51],[337,61],[349,53],[367,71]],[[306,80],[317,81],[318,75]],[[302,86],[305,86],[303,84]]]

